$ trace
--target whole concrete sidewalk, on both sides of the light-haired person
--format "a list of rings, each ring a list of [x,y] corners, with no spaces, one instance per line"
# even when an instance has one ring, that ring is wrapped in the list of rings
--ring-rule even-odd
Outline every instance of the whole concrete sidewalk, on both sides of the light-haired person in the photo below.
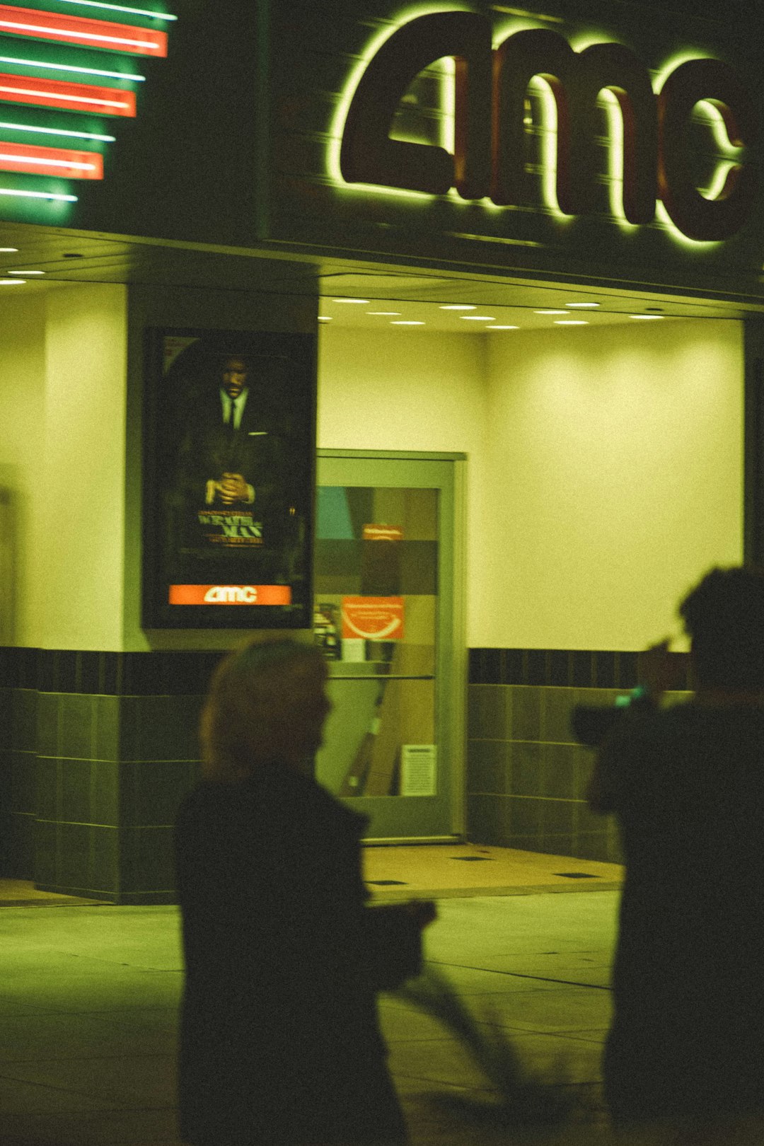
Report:
[[[490,1100],[489,1081],[451,1031],[395,996],[381,999],[392,1070],[415,1146],[609,1141],[599,1098],[617,893],[446,898],[427,957],[527,1067],[578,1099],[559,1131],[475,1121],[449,1099]],[[175,908],[0,910],[2,1146],[178,1144]]]

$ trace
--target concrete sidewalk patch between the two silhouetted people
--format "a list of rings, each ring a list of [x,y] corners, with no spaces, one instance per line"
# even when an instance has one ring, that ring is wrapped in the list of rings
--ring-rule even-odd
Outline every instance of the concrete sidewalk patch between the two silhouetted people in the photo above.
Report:
[[[493,1097],[473,1059],[433,1019],[396,998],[381,1003],[391,1065],[416,1146],[480,1143],[609,1143],[600,1093],[611,1014],[617,894],[542,894],[446,900],[427,957],[485,1029],[503,1028],[523,1067],[560,1081],[574,1099],[558,1130],[499,1129],[471,1121],[448,1098]]]

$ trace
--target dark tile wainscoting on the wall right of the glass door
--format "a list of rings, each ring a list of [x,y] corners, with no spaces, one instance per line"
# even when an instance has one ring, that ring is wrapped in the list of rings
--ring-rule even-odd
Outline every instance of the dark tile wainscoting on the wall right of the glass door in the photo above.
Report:
[[[687,657],[672,656],[686,685]],[[613,705],[637,684],[637,659],[633,652],[470,651],[471,842],[621,862],[613,818],[594,816],[584,800],[593,754],[574,740],[570,713],[577,704]]]

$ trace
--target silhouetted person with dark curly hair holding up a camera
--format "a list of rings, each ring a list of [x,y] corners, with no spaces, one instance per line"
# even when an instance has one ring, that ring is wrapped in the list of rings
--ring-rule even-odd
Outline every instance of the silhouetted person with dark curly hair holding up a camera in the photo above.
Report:
[[[625,858],[605,1086],[616,1123],[722,1143],[764,1109],[764,573],[714,570],[679,613],[693,699],[620,720],[589,791]]]

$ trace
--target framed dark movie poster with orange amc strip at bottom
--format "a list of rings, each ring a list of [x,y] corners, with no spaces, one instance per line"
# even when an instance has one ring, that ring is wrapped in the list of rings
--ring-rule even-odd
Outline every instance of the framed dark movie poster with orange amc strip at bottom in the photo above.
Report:
[[[315,337],[153,330],[143,623],[309,628]]]

